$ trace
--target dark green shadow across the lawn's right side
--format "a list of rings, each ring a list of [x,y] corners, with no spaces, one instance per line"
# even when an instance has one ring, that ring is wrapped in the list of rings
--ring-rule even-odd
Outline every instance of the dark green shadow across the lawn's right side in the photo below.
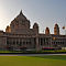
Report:
[[[66,61],[66,55],[53,55],[53,56],[33,56],[37,58],[47,58],[47,59],[62,59]]]

